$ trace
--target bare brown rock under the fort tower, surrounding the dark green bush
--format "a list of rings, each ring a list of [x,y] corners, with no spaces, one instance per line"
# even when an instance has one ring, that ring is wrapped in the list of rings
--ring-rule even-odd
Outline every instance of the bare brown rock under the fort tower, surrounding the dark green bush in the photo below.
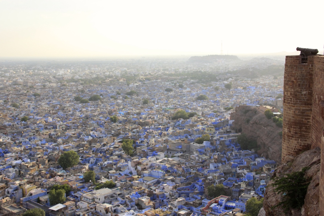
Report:
[[[295,159],[287,164],[280,165],[274,171],[274,176],[284,176],[287,173],[301,171],[303,167],[310,167],[305,175],[311,178],[307,188],[305,203],[301,210],[290,210],[284,213],[281,207],[275,207],[282,200],[282,194],[273,191],[273,187],[268,186],[264,194],[263,208],[266,215],[319,215],[319,177],[320,177],[320,153],[319,148],[308,150],[299,154]],[[271,184],[272,181],[269,182]],[[268,184],[268,185],[269,185]]]

